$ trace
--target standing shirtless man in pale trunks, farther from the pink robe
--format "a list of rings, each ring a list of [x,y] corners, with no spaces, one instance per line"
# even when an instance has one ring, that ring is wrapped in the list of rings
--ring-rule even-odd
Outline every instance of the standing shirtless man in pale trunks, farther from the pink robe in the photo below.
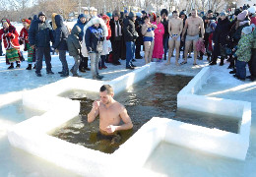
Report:
[[[182,40],[184,40],[184,34],[187,30],[187,36],[186,36],[186,41],[185,41],[185,59],[181,65],[184,65],[187,63],[187,54],[188,50],[193,43],[193,50],[194,50],[194,63],[193,65],[197,65],[196,60],[197,60],[197,51],[196,51],[196,43],[198,40],[203,41],[202,37],[199,37],[199,31],[201,29],[201,36],[204,36],[204,22],[202,18],[197,16],[197,11],[192,10],[191,11],[191,17],[189,17],[186,22],[185,22],[185,27],[182,32]]]

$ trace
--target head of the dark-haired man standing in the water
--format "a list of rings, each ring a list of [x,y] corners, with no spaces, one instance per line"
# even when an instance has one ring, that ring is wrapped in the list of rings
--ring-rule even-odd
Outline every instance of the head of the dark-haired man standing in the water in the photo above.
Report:
[[[103,104],[108,104],[114,96],[114,90],[109,85],[103,85],[99,89],[99,96]]]

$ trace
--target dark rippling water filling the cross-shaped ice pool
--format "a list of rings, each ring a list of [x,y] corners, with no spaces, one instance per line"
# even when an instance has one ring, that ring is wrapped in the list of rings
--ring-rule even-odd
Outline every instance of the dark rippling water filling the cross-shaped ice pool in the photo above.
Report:
[[[152,117],[165,117],[237,133],[238,120],[213,114],[177,110],[177,93],[190,80],[192,80],[191,77],[157,73],[115,97],[126,107],[134,125],[133,130],[120,132],[122,137],[120,143],[112,144],[108,140],[96,140],[98,118],[91,124],[87,122],[87,114],[91,111],[94,100],[86,97],[75,98],[81,101],[80,116],[74,119],[69,126],[56,130],[53,136],[86,148],[112,153]]]

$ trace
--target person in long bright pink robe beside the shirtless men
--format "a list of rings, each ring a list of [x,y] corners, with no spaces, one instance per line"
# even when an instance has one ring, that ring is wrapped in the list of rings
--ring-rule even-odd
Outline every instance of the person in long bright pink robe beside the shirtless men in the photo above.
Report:
[[[153,25],[156,25],[158,28],[154,30],[155,32],[155,45],[153,50],[152,58],[157,58],[160,62],[162,59],[163,54],[163,34],[164,34],[164,27],[160,23],[160,16],[157,17],[157,22],[153,23]]]

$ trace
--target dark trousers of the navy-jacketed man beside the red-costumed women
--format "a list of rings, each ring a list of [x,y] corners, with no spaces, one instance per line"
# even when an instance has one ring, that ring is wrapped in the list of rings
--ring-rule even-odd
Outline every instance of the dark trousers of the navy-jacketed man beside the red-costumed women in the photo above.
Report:
[[[36,47],[35,73],[40,73],[41,71],[43,56],[46,63],[46,72],[51,71],[50,47]]]

